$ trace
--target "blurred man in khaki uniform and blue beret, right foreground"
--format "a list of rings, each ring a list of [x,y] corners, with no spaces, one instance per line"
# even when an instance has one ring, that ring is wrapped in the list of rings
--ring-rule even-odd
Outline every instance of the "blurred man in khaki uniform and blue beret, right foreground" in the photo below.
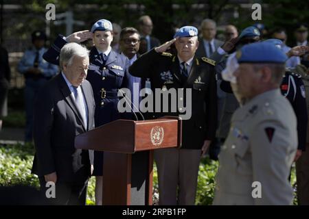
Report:
[[[297,120],[279,90],[288,57],[273,44],[257,42],[231,58],[237,60],[233,75],[242,107],[219,155],[214,205],[290,205]]]

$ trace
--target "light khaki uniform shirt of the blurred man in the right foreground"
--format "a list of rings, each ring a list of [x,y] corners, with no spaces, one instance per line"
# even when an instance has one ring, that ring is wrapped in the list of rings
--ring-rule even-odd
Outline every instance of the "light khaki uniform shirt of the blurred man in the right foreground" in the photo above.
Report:
[[[255,96],[233,114],[219,155],[214,205],[290,205],[296,150],[296,117],[288,100],[279,89]],[[260,195],[253,191],[255,181]]]

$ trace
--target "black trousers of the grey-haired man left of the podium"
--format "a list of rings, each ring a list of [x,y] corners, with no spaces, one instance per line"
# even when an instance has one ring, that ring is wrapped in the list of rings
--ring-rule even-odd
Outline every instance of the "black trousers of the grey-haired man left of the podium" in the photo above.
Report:
[[[46,194],[50,194],[50,188],[46,187],[44,177],[39,177],[41,192],[47,198]],[[47,198],[50,205],[86,205],[88,181],[77,182],[61,182],[57,181],[55,185],[55,198]],[[47,191],[49,190],[49,191]]]

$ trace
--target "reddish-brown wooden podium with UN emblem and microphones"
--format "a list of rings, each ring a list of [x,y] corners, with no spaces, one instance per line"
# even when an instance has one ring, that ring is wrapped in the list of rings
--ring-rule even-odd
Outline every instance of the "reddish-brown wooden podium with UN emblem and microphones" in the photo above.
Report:
[[[180,147],[181,125],[120,119],[76,136],[76,149],[104,151],[103,205],[152,205],[152,150]]]

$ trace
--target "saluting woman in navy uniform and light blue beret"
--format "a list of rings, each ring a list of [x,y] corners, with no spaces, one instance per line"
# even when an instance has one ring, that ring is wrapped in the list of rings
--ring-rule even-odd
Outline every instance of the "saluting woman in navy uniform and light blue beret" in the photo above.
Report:
[[[91,31],[79,31],[67,38],[58,36],[52,48],[44,54],[45,60],[58,62],[60,49],[67,42],[83,42],[93,39],[94,47],[89,54],[89,70],[87,80],[93,88],[95,98],[95,127],[119,118],[117,90],[126,87],[128,75],[128,58],[116,53],[111,48],[113,26],[105,19],[95,22]],[[94,152],[93,176],[95,176],[95,203],[102,205],[103,152]]]

